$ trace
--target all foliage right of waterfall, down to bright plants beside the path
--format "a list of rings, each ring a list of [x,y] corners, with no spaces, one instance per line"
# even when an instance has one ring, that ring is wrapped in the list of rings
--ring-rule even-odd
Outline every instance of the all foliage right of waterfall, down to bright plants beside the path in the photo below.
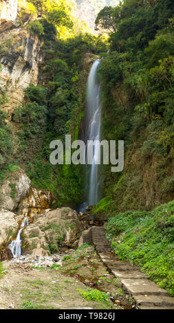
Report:
[[[94,214],[111,216],[107,237],[119,258],[174,296],[173,201],[147,211],[173,197],[174,3],[125,0],[108,12],[96,21],[110,43],[100,65],[102,132],[107,140],[124,140],[126,166],[122,174],[105,168],[104,197]],[[156,174],[148,179],[151,167]]]

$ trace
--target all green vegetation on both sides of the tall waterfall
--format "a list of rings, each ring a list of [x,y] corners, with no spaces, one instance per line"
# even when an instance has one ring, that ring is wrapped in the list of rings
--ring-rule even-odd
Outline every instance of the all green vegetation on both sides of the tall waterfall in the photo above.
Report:
[[[108,39],[79,27],[69,1],[30,0],[20,8],[19,23],[23,25],[28,12],[27,27],[43,42],[44,61],[39,85],[26,89],[23,104],[12,115],[18,129],[15,139],[7,113],[0,110],[0,180],[21,166],[33,186],[52,191],[54,207],[80,202],[83,169],[51,165],[50,142],[65,142],[66,134],[79,139],[89,67],[96,55],[102,57],[102,136],[124,140],[125,167],[121,174],[111,173],[110,165],[103,168],[104,197],[92,212],[112,216],[106,230],[116,254],[140,266],[173,296],[174,205],[158,206],[174,196],[173,0],[124,0],[115,8],[103,8],[96,29]],[[13,42],[1,44],[1,54],[8,53]],[[1,91],[0,103],[6,102],[6,91]],[[14,194],[11,186],[11,197]],[[54,231],[52,253],[63,238],[58,227]],[[85,299],[107,301],[105,293],[96,290],[80,293]]]

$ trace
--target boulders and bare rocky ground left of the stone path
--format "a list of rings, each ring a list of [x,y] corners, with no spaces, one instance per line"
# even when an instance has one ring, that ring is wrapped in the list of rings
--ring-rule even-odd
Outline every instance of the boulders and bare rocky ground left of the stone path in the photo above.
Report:
[[[103,221],[91,219],[90,208],[51,210],[49,192],[31,188],[18,169],[3,182],[1,200],[0,309],[134,308],[92,246],[90,228]],[[12,258],[21,227],[22,256]]]

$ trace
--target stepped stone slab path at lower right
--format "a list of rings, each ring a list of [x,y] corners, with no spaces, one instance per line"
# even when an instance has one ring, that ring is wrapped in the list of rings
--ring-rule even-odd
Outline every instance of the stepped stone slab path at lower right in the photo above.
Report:
[[[174,298],[168,291],[111,252],[103,227],[91,227],[91,239],[100,259],[115,277],[120,278],[122,288],[135,300],[137,309],[174,309]]]

